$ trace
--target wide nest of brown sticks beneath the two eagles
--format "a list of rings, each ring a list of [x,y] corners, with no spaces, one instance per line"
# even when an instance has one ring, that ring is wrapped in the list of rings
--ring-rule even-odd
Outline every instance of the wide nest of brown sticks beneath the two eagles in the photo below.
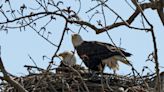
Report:
[[[15,77],[29,92],[150,92],[154,76],[142,78],[114,74],[91,74],[84,67],[58,67],[55,71],[44,70],[23,77]],[[149,88],[146,86],[148,84]],[[18,92],[12,85],[2,82],[2,92]]]

